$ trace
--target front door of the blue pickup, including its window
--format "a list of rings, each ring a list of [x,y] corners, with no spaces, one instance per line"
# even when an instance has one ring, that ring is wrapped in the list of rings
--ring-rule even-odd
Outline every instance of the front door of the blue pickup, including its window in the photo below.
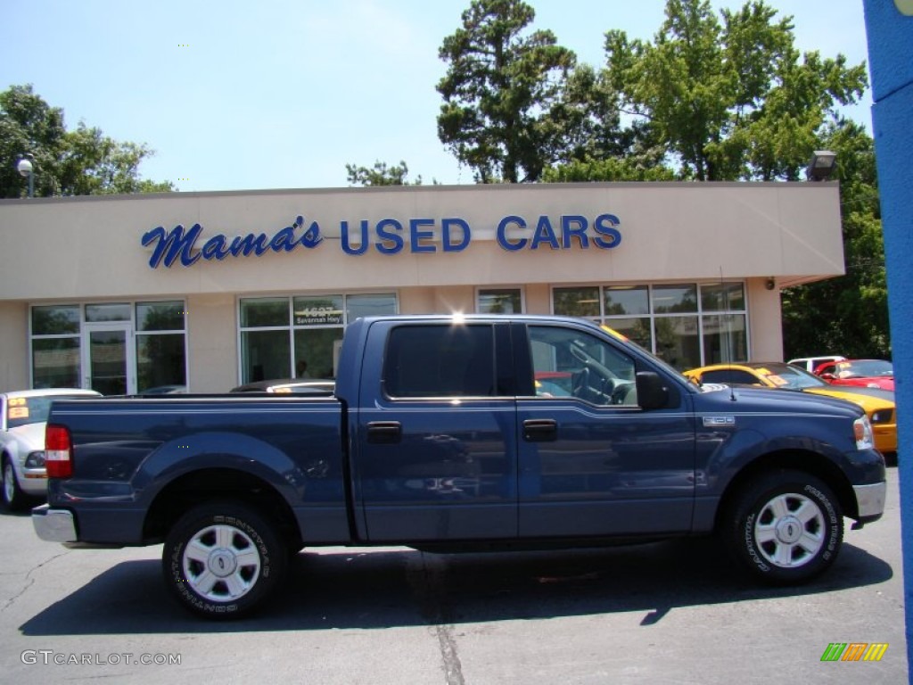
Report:
[[[685,397],[638,406],[635,372],[647,367],[608,334],[568,323],[525,331],[517,351],[527,382],[517,416],[519,536],[690,530],[695,426]]]

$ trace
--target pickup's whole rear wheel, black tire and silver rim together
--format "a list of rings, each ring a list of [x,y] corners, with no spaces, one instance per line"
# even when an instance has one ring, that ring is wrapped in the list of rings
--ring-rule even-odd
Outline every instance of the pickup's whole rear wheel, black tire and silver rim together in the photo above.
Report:
[[[280,584],[287,544],[267,518],[244,504],[214,501],[187,511],[165,540],[165,583],[198,616],[239,618],[263,606]]]

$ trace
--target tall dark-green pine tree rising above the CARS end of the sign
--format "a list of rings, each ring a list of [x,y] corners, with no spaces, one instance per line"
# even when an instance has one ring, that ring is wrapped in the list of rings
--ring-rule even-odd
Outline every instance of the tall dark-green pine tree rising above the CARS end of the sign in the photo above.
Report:
[[[524,35],[534,18],[521,0],[473,0],[438,52],[437,135],[479,183],[537,181],[567,150],[561,96],[576,57],[551,31]]]

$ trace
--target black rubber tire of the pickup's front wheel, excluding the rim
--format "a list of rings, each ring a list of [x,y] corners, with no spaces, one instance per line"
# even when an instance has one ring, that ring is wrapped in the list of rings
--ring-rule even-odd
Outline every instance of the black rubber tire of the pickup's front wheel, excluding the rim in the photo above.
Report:
[[[821,511],[824,521],[824,543],[815,553],[813,559],[795,568],[782,568],[771,564],[761,552],[755,539],[755,523],[761,515],[762,508],[773,498],[782,494],[798,494],[813,501]],[[834,564],[843,543],[843,512],[834,497],[834,493],[818,479],[783,480],[746,498],[735,517],[735,540],[738,556],[742,564],[762,579],[777,584],[803,583],[816,575],[822,574]]]

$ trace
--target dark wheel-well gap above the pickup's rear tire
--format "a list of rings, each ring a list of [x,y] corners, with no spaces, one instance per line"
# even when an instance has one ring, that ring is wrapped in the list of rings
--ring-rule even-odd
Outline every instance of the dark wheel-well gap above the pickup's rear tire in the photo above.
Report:
[[[289,545],[303,546],[295,515],[276,488],[247,471],[219,468],[185,473],[160,490],[143,522],[143,540],[163,541],[184,512],[215,500],[244,502],[275,523],[279,536]]]

